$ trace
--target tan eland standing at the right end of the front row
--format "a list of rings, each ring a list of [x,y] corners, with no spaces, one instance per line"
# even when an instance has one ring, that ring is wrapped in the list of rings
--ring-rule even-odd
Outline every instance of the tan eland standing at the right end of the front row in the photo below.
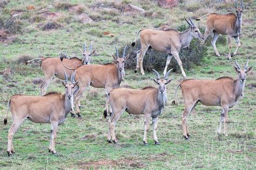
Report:
[[[234,70],[238,73],[237,79],[231,77],[220,77],[216,80],[184,80],[178,84],[174,93],[173,104],[177,88],[181,88],[181,93],[185,103],[185,110],[181,117],[183,126],[183,136],[187,140],[190,137],[187,128],[187,117],[196,107],[198,102],[207,106],[220,106],[220,123],[218,134],[221,133],[221,126],[224,122],[224,134],[227,136],[228,109],[232,108],[240,96],[243,95],[245,87],[246,73],[250,72],[248,60],[244,68],[241,68],[235,60]]]

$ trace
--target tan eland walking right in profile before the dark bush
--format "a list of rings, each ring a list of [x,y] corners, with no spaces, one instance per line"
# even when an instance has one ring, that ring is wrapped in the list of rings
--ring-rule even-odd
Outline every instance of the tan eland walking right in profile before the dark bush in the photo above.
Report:
[[[176,59],[176,61],[180,66],[182,75],[186,77],[186,74],[183,70],[182,63],[179,59],[180,49],[188,47],[193,38],[198,38],[199,40],[203,39],[202,34],[200,33],[196,24],[194,24],[193,20],[190,18],[190,16],[189,16],[189,19],[190,21],[188,21],[185,18],[188,25],[190,25],[190,29],[182,33],[179,33],[178,31],[171,30],[171,29],[166,31],[152,30],[152,29],[139,30],[136,38],[132,42],[132,46],[134,46],[136,43],[138,34],[139,32],[141,32],[140,44],[142,45],[142,49],[141,49],[142,51],[140,52],[139,58],[137,57],[137,66],[134,72],[136,73],[140,68],[140,73],[142,73],[142,75],[145,75],[144,69],[143,69],[143,58],[147,50],[151,47],[155,51],[165,52],[168,54],[165,69],[164,69],[164,75],[167,72],[167,68],[171,62],[172,56],[174,56],[174,58]]]

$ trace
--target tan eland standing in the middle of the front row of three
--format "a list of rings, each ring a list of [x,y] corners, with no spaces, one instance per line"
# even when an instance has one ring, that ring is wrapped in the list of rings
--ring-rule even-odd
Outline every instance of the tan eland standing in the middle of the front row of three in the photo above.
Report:
[[[147,145],[147,131],[149,130],[150,118],[152,117],[153,139],[156,145],[160,144],[157,139],[157,121],[167,101],[166,84],[170,83],[172,80],[168,79],[171,70],[161,79],[159,73],[153,69],[154,73],[157,75],[157,79],[152,78],[152,80],[158,84],[158,88],[117,88],[110,91],[106,100],[106,109],[108,108],[107,104],[110,103],[113,111],[109,119],[109,133],[107,135],[107,141],[109,143],[112,143],[111,137],[113,142],[117,143],[114,126],[123,112],[127,111],[129,114],[145,116],[143,138],[145,145]],[[108,110],[104,111],[104,117],[107,116],[108,112]]]

